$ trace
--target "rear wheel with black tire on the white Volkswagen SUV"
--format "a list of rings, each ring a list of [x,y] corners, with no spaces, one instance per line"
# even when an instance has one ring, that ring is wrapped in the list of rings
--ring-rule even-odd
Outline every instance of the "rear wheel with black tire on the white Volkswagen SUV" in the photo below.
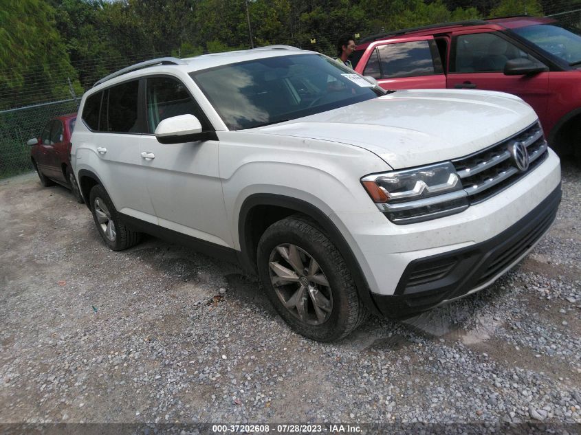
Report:
[[[122,251],[139,243],[141,233],[129,230],[105,189],[97,184],[89,194],[89,205],[97,230],[107,246]]]

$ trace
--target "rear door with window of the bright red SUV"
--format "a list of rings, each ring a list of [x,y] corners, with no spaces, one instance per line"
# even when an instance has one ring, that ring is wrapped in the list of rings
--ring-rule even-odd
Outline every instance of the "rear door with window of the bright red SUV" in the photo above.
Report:
[[[446,87],[446,76],[433,36],[370,43],[355,71],[375,78],[384,89]]]

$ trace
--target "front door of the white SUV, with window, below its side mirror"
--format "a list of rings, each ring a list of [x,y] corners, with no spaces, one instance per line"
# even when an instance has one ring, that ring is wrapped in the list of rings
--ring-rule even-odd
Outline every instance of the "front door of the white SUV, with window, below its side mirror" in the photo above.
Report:
[[[146,79],[149,135],[141,138],[142,168],[158,223],[202,241],[232,247],[218,168],[219,141],[160,144],[153,135],[162,120],[190,113],[204,130],[210,124],[186,86],[171,76]]]

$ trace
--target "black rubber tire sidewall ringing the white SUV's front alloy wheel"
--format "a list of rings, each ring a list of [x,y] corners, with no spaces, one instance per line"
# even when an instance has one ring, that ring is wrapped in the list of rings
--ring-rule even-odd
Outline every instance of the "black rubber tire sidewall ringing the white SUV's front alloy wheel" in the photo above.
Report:
[[[325,234],[322,234],[322,232],[320,232],[316,227],[309,223],[307,223],[307,225],[311,226],[313,230],[327,238]],[[329,238],[327,238],[327,241],[332,244]],[[274,291],[274,286],[270,280],[270,254],[276,246],[283,243],[290,243],[304,249],[316,260],[327,277],[333,298],[333,310],[331,311],[331,316],[325,323],[320,325],[309,325],[300,322],[297,317],[292,315],[292,313],[285,308],[281,300],[278,298],[276,291]],[[322,246],[319,243],[309,239],[306,234],[298,234],[294,229],[286,229],[275,224],[273,227],[269,228],[263,235],[263,238],[261,238],[257,254],[259,276],[263,282],[263,286],[265,287],[267,297],[273,304],[276,312],[283,317],[287,324],[291,325],[292,328],[301,335],[322,342],[333,341],[334,339],[344,335],[341,326],[344,324],[344,320],[347,318],[349,311],[349,304],[347,301],[347,291],[349,291],[349,289],[346,289],[344,286],[344,280],[341,277],[340,270],[338,270],[340,265],[336,265],[331,261],[328,254],[323,252]]]

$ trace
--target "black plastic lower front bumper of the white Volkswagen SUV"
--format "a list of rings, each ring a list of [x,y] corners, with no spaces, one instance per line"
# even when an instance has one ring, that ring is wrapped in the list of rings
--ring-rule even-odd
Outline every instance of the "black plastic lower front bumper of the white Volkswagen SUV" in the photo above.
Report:
[[[559,184],[536,208],[493,238],[413,260],[393,295],[371,293],[377,308],[388,317],[409,317],[491,285],[549,230],[560,199]]]

